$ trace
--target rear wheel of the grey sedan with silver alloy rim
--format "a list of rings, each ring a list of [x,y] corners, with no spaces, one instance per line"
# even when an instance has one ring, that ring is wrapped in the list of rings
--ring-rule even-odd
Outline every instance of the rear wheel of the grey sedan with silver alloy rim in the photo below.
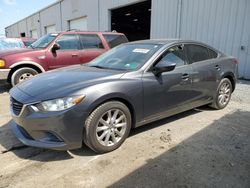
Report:
[[[218,86],[214,102],[210,106],[217,110],[225,108],[231,99],[232,91],[231,81],[228,78],[223,78]]]

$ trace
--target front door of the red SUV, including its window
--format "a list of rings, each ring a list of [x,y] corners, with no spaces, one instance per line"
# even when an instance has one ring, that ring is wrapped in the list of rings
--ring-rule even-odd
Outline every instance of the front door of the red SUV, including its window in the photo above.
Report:
[[[76,34],[64,34],[60,36],[55,43],[59,44],[60,49],[56,52],[47,51],[49,69],[80,64],[81,52],[80,41]]]

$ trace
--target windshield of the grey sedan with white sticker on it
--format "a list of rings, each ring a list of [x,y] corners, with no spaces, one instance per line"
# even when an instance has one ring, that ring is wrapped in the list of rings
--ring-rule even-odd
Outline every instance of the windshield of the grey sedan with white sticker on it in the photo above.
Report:
[[[161,46],[160,44],[124,44],[94,59],[88,66],[114,70],[137,70]]]

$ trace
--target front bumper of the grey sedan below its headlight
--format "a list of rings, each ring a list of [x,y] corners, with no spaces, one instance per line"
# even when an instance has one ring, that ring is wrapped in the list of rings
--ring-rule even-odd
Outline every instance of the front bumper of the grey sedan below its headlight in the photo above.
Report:
[[[12,104],[11,113],[11,128],[25,145],[55,150],[82,146],[87,113],[81,110],[80,105],[65,111],[46,113],[35,112],[30,105],[24,105],[17,115]]]

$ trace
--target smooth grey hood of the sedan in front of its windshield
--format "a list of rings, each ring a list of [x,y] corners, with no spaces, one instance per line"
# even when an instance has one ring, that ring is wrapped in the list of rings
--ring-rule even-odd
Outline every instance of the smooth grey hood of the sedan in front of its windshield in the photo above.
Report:
[[[35,100],[47,100],[68,96],[94,84],[120,79],[123,74],[121,71],[77,65],[40,74],[17,85],[16,89]]]

